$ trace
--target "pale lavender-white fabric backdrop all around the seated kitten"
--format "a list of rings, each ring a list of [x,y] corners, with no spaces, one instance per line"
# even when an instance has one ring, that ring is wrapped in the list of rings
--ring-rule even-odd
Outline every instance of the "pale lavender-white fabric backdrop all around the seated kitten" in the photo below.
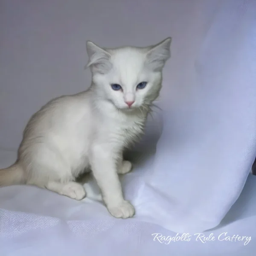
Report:
[[[216,227],[244,186],[256,154],[256,2],[86,2],[0,1],[0,167],[15,160],[33,112],[89,85],[88,71],[82,73],[86,40],[143,46],[170,35],[172,58],[159,103],[164,111],[148,124],[134,172],[122,177],[136,216],[116,220],[88,198],[81,203],[35,187],[1,188],[1,255],[57,249],[57,255],[253,255],[251,176],[221,226],[204,232],[251,236],[246,246],[195,239],[165,245],[151,234]]]

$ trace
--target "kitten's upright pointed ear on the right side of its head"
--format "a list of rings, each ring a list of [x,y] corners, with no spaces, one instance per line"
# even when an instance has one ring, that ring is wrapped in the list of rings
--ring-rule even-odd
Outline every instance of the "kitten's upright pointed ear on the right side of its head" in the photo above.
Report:
[[[161,71],[164,64],[170,58],[170,45],[172,38],[166,38],[159,44],[156,44],[149,49],[146,55],[146,65],[153,71]]]

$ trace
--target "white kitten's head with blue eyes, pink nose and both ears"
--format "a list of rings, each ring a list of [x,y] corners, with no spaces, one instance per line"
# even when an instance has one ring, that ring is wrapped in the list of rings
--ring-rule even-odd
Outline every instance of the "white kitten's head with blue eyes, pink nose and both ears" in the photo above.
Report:
[[[102,49],[87,41],[97,95],[116,108],[147,108],[159,95],[162,69],[170,57],[171,38],[150,47]]]

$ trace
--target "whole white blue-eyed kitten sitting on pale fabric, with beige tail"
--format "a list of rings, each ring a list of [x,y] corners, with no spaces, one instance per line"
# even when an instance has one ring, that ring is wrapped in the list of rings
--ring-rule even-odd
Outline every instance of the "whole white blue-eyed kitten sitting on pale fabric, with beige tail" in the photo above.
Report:
[[[32,184],[81,200],[86,192],[75,179],[91,169],[109,212],[133,216],[118,177],[132,167],[122,153],[143,133],[170,44],[102,49],[87,41],[90,88],[53,99],[31,117],[17,161],[0,170],[0,186]]]

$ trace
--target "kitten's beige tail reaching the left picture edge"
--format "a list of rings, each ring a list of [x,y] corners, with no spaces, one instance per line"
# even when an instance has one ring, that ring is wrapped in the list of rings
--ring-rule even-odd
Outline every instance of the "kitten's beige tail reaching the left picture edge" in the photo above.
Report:
[[[0,186],[18,185],[25,182],[24,171],[18,163],[6,169],[0,169]]]

